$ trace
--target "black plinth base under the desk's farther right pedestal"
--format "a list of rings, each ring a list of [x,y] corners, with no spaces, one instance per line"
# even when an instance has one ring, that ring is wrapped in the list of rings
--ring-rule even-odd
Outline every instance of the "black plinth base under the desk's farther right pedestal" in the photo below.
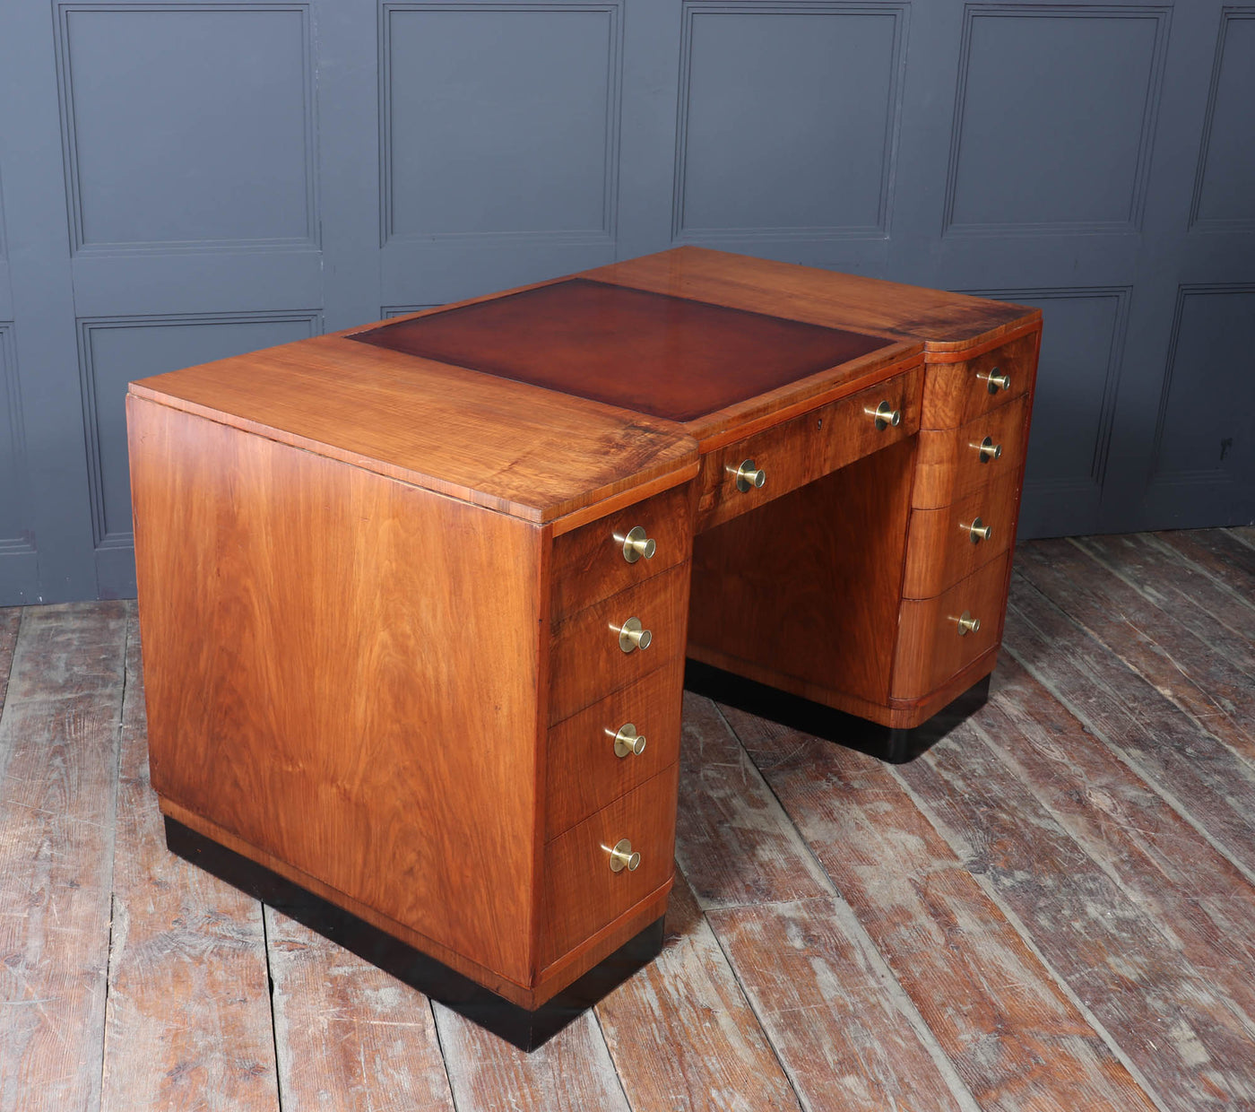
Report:
[[[699,660],[688,660],[684,666],[684,687],[699,695],[708,695],[738,710],[778,722],[791,729],[823,738],[828,742],[857,749],[887,761],[905,764],[941,740],[960,722],[979,710],[989,699],[989,676],[968,688],[958,699],[941,708],[927,722],[912,729],[894,729],[856,718],[842,710],[833,710],[822,703],[813,703],[799,695],[754,683],[743,676],[713,668]]]

